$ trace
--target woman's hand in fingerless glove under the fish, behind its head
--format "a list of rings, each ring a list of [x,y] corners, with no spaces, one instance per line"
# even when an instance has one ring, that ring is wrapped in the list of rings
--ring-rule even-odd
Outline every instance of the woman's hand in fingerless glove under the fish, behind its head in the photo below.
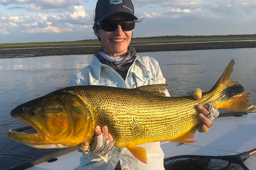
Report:
[[[115,141],[111,134],[109,134],[108,127],[103,126],[102,129],[100,129],[100,126],[96,126],[95,130],[95,137],[92,143],[89,143],[87,141],[82,143],[82,149],[88,148],[87,153],[93,152],[98,155],[104,155],[106,152],[111,151],[114,148]],[[84,151],[86,152],[86,151]]]

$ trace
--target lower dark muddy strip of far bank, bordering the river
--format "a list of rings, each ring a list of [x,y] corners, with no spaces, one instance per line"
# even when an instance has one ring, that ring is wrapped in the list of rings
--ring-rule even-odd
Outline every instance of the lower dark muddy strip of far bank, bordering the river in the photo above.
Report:
[[[177,44],[157,44],[157,45],[130,45],[136,52],[158,52],[158,51],[190,51],[190,50],[212,50],[212,49],[233,49],[233,48],[256,48],[256,41],[222,41],[222,42],[195,42]],[[0,59],[3,58],[25,58],[56,55],[85,55],[94,54],[102,50],[102,47],[48,47],[35,49],[6,49],[0,50]]]

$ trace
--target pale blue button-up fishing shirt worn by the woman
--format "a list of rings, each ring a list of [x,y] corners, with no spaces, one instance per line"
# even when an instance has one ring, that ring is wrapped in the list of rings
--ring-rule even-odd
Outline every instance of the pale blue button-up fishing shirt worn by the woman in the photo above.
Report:
[[[165,84],[159,64],[151,57],[137,56],[130,66],[124,80],[114,69],[100,63],[95,58],[90,66],[86,66],[70,81],[71,86],[77,85],[102,85],[121,88],[136,88],[144,85]],[[165,91],[166,96],[170,96]],[[127,148],[115,147],[104,156],[94,153],[83,154],[80,165],[76,170],[114,170],[118,160],[122,169],[127,170],[164,170],[163,151],[160,142],[151,142],[137,145],[146,148],[147,164],[136,159]]]

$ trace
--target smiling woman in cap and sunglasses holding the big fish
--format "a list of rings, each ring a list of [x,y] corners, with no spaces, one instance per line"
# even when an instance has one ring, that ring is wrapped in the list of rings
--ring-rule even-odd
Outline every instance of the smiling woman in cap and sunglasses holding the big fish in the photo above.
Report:
[[[136,88],[150,84],[165,84],[159,64],[153,58],[139,57],[136,51],[128,47],[135,28],[133,4],[130,0],[98,0],[95,9],[95,23],[93,30],[102,42],[103,51],[95,53],[95,59],[90,66],[77,73],[70,85],[103,85],[122,88]],[[197,92],[197,91],[196,91]],[[166,96],[170,96],[168,91]],[[195,97],[198,99],[198,96]],[[202,114],[201,128],[213,125],[209,111],[198,106]],[[114,140],[108,133],[108,127],[97,126],[95,139],[88,147],[84,142],[81,150],[89,154],[83,154],[81,164],[77,169],[141,169],[164,170],[163,151],[160,142],[144,143],[138,145],[147,150],[147,164],[136,159],[126,148],[114,147]]]

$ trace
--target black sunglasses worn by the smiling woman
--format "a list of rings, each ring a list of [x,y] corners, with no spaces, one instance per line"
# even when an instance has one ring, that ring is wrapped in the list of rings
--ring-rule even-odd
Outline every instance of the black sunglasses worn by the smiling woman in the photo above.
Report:
[[[115,31],[118,27],[118,25],[121,26],[123,31],[131,31],[135,27],[135,21],[112,21],[112,20],[106,20],[102,21],[101,23],[97,22],[97,25],[104,31],[112,32]]]

